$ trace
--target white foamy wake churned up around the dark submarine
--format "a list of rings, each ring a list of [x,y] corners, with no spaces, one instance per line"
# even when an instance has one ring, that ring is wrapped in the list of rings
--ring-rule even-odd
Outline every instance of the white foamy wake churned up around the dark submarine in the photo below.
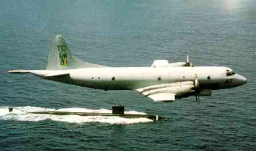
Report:
[[[9,107],[0,107],[0,120],[19,120],[19,121],[41,121],[51,119],[54,121],[64,121],[68,123],[86,123],[86,122],[100,122],[110,124],[133,124],[144,123],[152,120],[147,118],[121,118],[119,116],[79,116],[79,115],[47,115],[47,114],[28,114],[27,112],[38,111],[67,111],[67,112],[97,112],[97,113],[112,113],[112,110],[100,109],[92,110],[87,108],[61,108],[55,110],[54,108],[43,107],[13,107],[13,112],[9,112]],[[145,114],[143,112],[125,111],[125,114]]]

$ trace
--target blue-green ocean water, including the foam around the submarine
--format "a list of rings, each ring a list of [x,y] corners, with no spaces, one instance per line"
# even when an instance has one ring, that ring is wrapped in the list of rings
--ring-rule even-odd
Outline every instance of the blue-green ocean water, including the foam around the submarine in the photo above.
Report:
[[[0,150],[255,150],[254,0],[1,1]],[[228,66],[246,85],[211,97],[154,103],[135,91],[102,91],[46,81],[12,69],[45,69],[61,34],[72,53],[108,66],[184,61]],[[29,115],[27,111],[110,112],[121,99],[147,119]],[[9,114],[7,107],[14,107]]]

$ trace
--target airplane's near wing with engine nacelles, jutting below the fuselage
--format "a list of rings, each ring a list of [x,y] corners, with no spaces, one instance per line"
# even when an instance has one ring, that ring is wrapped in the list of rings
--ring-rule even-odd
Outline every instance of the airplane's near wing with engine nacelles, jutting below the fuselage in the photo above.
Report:
[[[142,87],[140,89],[136,89],[136,91],[155,102],[172,102],[177,96],[186,96],[191,94],[193,92],[193,87],[193,81],[184,81]]]

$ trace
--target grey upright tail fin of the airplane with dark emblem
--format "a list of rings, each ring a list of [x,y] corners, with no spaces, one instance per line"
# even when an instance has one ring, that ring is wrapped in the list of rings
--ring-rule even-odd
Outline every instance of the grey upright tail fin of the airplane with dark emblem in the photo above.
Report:
[[[106,66],[90,64],[72,56],[63,36],[56,35],[51,41],[47,70],[67,70],[79,68],[102,68]]]

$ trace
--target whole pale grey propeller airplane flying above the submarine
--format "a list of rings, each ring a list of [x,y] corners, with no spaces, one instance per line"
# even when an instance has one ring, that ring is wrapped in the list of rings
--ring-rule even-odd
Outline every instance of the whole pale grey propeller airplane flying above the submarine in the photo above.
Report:
[[[63,36],[51,40],[46,70],[10,70],[38,77],[102,90],[135,90],[155,102],[211,96],[212,90],[244,85],[247,80],[230,68],[193,66],[186,62],[155,60],[147,67],[110,67],[84,62],[72,55]]]

